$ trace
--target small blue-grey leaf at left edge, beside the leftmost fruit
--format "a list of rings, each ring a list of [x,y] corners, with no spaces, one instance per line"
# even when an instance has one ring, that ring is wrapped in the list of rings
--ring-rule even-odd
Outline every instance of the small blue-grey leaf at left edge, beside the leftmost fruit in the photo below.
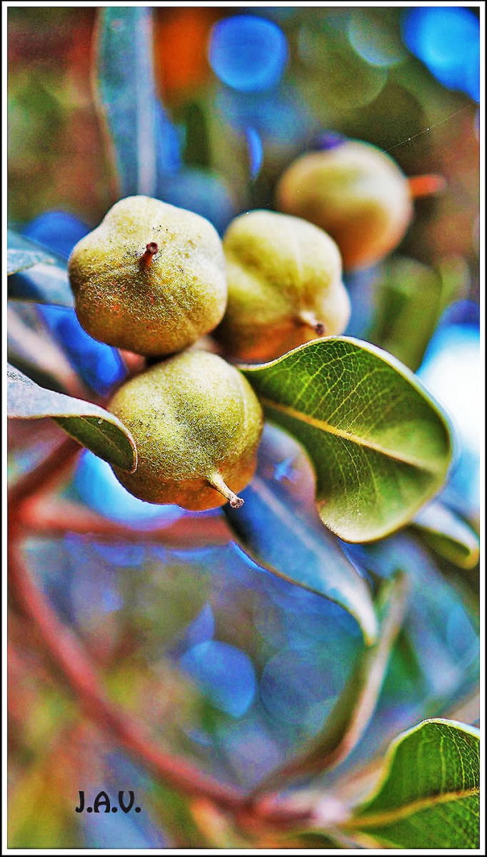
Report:
[[[66,261],[62,256],[11,229],[7,247],[9,299],[74,306]]]

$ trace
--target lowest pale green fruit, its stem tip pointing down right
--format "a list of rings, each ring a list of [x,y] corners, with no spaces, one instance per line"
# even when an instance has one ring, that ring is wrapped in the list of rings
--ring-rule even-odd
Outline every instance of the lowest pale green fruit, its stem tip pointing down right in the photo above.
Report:
[[[242,373],[207,351],[188,350],[136,375],[108,409],[135,439],[134,473],[113,468],[130,494],[193,511],[227,500],[208,478],[237,493],[256,469],[262,407]]]

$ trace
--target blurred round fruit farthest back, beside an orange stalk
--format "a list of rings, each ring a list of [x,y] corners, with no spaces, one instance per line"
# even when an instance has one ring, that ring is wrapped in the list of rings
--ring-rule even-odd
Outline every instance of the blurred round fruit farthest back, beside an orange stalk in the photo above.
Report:
[[[370,267],[392,252],[412,220],[406,176],[386,153],[361,141],[300,156],[276,193],[280,211],[334,238],[346,270]]]

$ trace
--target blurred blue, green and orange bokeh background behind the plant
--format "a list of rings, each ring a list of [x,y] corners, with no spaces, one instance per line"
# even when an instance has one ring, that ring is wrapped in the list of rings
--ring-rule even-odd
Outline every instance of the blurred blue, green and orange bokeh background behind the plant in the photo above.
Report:
[[[66,257],[117,194],[93,98],[97,11],[8,10],[9,222]],[[407,176],[444,177],[442,193],[416,201],[398,252],[347,277],[346,333],[418,370],[446,407],[457,456],[442,500],[478,530],[478,9],[158,7],[153,50],[158,195],[220,234],[238,213],[274,207],[286,166],[330,132],[390,152]],[[75,375],[87,396],[105,395],[126,371],[68,308],[19,304],[10,321],[13,362],[47,386],[63,389]],[[259,475],[299,495],[309,488],[301,453],[277,429],[266,432]],[[12,479],[59,436],[49,421],[16,422]],[[32,534],[24,552],[112,698],[154,740],[251,788],[319,732],[362,645],[343,608],[250,560],[223,512],[135,500],[90,452],[51,501],[147,531],[133,543]],[[372,587],[403,568],[412,596],[375,715],[326,789],[425,716],[478,717],[469,701],[478,566],[460,570],[412,527],[342,547]],[[81,714],[15,611],[10,640],[10,847],[245,847],[211,807],[153,782]],[[135,789],[143,812],[75,817],[79,789],[102,788]]]

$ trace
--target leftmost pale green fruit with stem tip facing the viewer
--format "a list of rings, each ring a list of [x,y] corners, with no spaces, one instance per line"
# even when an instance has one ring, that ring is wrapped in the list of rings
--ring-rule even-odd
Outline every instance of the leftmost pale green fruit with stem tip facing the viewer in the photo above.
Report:
[[[146,268],[147,244],[158,252]],[[213,330],[225,312],[225,258],[199,214],[148,196],[117,202],[73,249],[69,280],[94,339],[158,357]]]

